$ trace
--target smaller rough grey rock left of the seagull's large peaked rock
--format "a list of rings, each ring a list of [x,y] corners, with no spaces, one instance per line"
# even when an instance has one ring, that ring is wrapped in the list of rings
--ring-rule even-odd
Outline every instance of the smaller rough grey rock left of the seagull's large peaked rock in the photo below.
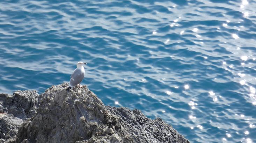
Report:
[[[0,94],[0,142],[14,142],[18,129],[36,114],[38,94],[35,90]]]

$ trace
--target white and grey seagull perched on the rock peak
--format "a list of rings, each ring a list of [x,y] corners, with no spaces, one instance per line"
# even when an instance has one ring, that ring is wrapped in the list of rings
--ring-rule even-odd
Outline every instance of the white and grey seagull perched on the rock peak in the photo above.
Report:
[[[74,70],[74,72],[71,74],[71,77],[70,77],[69,87],[66,89],[67,92],[71,88],[78,85],[83,80],[83,77],[85,76],[85,68],[83,67],[83,64],[87,64],[87,63],[78,62],[76,64],[76,69]]]

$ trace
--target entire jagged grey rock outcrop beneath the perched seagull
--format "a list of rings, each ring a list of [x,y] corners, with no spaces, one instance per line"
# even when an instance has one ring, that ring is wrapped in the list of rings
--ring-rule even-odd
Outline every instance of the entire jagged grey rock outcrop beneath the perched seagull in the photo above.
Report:
[[[160,118],[105,106],[87,86],[67,93],[67,86],[0,94],[0,142],[189,143]]]

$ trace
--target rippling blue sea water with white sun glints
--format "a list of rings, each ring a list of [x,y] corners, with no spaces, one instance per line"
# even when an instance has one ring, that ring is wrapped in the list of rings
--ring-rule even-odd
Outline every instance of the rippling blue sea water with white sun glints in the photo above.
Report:
[[[68,82],[192,143],[256,142],[255,0],[2,0],[0,93]]]

